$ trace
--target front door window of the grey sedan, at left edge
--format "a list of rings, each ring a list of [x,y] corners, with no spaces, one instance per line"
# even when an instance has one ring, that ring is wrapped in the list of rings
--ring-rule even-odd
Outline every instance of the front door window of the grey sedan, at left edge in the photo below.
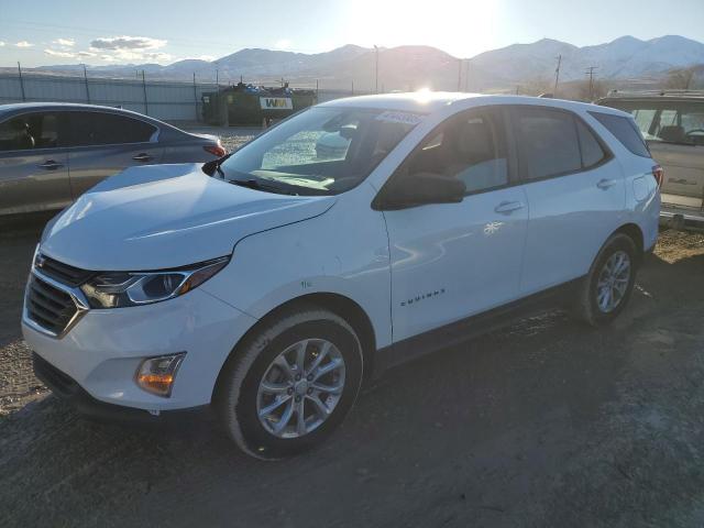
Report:
[[[58,146],[58,120],[55,113],[28,113],[0,123],[0,151],[55,146]]]

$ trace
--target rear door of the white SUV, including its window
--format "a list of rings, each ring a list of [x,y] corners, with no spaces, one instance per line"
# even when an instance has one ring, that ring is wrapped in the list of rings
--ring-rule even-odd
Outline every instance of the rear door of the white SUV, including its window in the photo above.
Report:
[[[626,194],[619,164],[573,112],[517,106],[510,114],[529,207],[525,296],[588,272],[619,226]]]

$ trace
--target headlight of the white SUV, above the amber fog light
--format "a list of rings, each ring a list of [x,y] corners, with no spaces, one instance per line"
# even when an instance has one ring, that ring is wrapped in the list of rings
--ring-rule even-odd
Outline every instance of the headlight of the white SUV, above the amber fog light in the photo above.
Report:
[[[170,299],[190,292],[222,270],[229,256],[160,272],[100,273],[84,284],[92,308],[123,308]]]

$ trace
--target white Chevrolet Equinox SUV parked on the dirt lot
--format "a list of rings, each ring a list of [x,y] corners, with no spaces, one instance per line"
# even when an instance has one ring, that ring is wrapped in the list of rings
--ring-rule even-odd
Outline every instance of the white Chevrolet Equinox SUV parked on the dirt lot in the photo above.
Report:
[[[88,413],[212,404],[250,454],[298,452],[373,371],[537,299],[613,320],[658,233],[642,150],[609,108],[410,94],[320,105],[219,162],[129,168],[45,229],[35,371]]]

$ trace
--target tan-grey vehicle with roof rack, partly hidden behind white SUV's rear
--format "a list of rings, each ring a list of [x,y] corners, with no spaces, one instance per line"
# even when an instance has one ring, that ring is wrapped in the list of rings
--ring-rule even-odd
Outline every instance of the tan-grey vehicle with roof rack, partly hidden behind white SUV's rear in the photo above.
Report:
[[[704,222],[704,91],[613,91],[598,105],[631,113],[663,167],[661,216]]]

